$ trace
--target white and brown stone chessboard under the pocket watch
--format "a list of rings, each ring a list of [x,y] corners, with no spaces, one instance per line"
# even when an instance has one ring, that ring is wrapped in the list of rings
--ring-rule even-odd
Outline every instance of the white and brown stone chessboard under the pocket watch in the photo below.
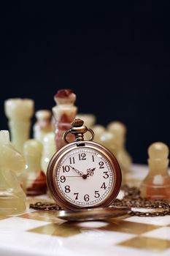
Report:
[[[133,169],[134,183],[135,175],[143,178],[147,173],[142,165]],[[30,209],[29,204],[37,201],[49,198],[28,197],[25,213],[0,217],[1,256],[170,254],[170,216],[67,222],[55,212]]]

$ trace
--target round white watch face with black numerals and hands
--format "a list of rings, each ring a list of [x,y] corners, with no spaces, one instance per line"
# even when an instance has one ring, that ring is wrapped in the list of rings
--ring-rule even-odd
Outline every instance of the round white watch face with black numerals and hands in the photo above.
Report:
[[[58,163],[55,181],[61,196],[75,206],[89,207],[106,200],[114,184],[107,159],[92,148],[76,148]]]

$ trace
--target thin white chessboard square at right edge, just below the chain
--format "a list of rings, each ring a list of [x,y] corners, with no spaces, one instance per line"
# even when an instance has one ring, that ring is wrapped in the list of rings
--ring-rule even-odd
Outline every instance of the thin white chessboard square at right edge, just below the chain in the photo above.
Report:
[[[137,217],[137,216],[133,216],[133,217],[125,219],[125,221],[144,223],[144,224],[148,224],[148,225],[166,226],[166,225],[170,225],[170,216],[164,216],[164,217]]]

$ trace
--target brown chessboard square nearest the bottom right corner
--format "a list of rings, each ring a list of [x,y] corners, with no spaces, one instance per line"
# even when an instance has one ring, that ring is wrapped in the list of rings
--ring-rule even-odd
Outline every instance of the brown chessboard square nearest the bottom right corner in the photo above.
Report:
[[[166,239],[137,236],[117,245],[136,249],[146,249],[152,252],[161,252],[170,248],[170,241]]]

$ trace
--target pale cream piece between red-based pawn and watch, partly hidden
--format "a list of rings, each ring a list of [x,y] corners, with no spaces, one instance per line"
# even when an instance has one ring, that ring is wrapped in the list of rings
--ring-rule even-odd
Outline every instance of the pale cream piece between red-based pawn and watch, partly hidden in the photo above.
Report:
[[[43,139],[42,170],[44,173],[47,172],[48,163],[53,157],[55,151],[55,135],[54,132],[49,132],[44,136]]]

